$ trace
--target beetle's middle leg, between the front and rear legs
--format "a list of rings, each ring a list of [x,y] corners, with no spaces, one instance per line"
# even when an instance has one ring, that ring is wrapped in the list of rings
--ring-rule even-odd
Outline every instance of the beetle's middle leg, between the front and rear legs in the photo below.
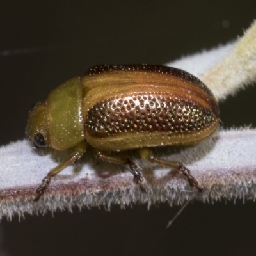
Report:
[[[110,163],[128,165],[132,171],[132,174],[134,177],[134,182],[140,186],[141,191],[143,193],[146,192],[146,189],[142,185],[144,179],[141,176],[141,173],[138,171],[138,166],[136,164],[134,164],[129,158],[122,157],[122,156],[109,156],[108,154],[105,154],[104,152],[102,152],[100,150],[95,150],[95,156],[103,161],[107,161]]]

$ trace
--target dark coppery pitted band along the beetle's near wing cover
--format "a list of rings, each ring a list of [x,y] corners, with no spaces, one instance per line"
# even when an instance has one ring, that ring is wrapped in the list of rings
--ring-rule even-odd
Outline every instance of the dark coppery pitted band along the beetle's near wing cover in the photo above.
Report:
[[[196,133],[215,121],[211,109],[191,99],[134,95],[98,102],[89,109],[85,125],[90,136],[103,138],[124,132]]]

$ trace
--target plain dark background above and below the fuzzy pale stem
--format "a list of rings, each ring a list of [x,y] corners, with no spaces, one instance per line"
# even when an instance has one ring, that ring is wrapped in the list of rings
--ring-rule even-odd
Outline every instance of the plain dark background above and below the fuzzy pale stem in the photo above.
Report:
[[[31,106],[95,64],[164,64],[236,39],[255,18],[255,0],[1,1],[0,144],[24,138]],[[256,127],[255,95],[250,87],[220,104],[225,128]],[[254,202],[193,202],[166,229],[177,211],[133,205],[3,219],[1,247],[7,255],[255,255]]]

